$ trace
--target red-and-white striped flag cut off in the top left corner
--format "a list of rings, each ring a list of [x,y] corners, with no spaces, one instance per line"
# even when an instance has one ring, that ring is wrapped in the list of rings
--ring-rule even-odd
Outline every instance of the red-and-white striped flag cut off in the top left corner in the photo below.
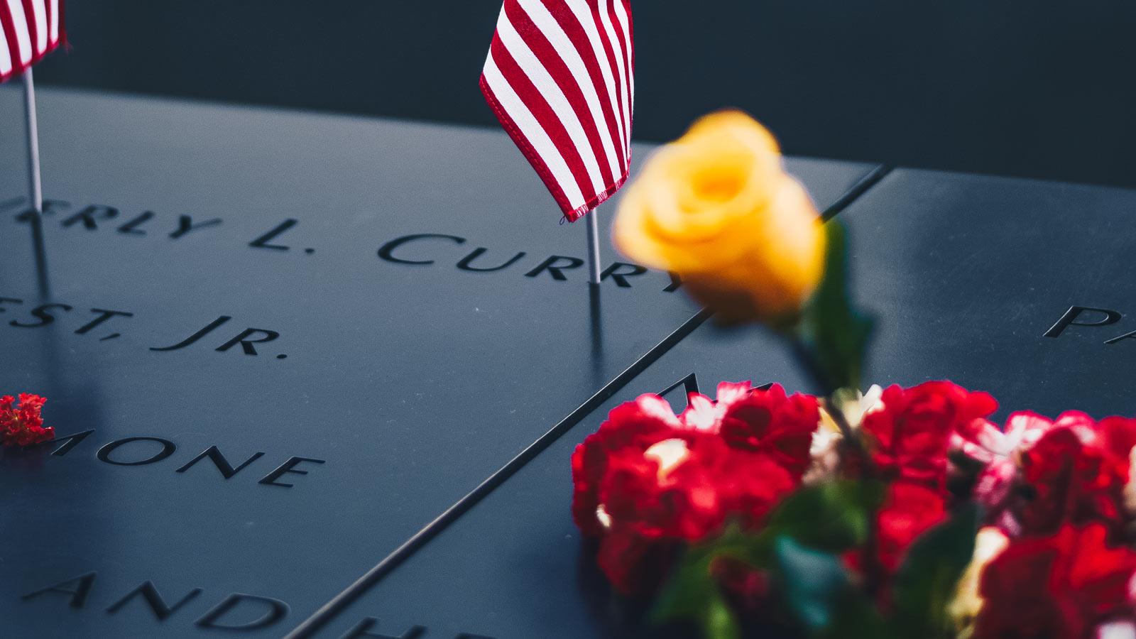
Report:
[[[0,82],[24,73],[64,40],[64,0],[0,0]]]

